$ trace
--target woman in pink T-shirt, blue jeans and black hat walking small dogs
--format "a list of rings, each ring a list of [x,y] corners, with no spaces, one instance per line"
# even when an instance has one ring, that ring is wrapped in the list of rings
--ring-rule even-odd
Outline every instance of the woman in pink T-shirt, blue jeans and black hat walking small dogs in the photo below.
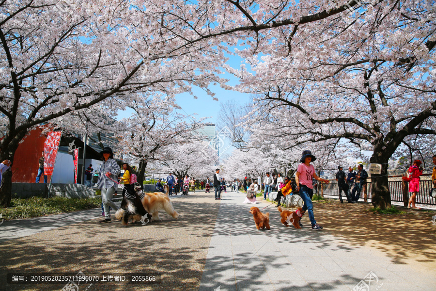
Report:
[[[315,160],[316,157],[312,155],[310,150],[303,151],[303,156],[300,159],[301,164],[298,165],[296,171],[295,182],[296,182],[296,190],[299,191],[299,194],[304,201],[302,214],[304,214],[306,210],[308,210],[312,229],[321,230],[323,229],[323,227],[319,226],[316,223],[315,216],[313,215],[313,205],[311,200],[313,195],[312,178],[315,178],[315,180],[322,181],[327,184],[329,181],[323,178],[319,178],[316,175],[315,168],[311,164],[311,162],[314,162]]]

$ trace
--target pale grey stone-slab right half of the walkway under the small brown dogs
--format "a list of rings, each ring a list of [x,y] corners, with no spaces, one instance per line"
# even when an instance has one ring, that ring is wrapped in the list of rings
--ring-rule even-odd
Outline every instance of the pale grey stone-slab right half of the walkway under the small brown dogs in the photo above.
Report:
[[[303,229],[295,229],[280,223],[274,205],[262,210],[269,203],[242,204],[243,193],[228,192],[222,199],[200,291],[436,288],[435,269],[399,263],[376,248],[355,246],[329,234],[328,229],[314,231],[307,215]],[[256,229],[249,213],[252,206],[270,213],[270,230]],[[316,205],[314,213],[315,219],[320,217]]]

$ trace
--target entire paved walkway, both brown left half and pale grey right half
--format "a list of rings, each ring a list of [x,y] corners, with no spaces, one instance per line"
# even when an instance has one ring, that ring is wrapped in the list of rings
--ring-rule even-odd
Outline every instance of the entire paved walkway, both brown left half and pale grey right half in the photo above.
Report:
[[[162,272],[165,284],[172,282],[170,285],[141,286],[140,290],[198,290],[197,286],[200,291],[435,290],[435,268],[426,269],[410,259],[389,258],[376,247],[359,246],[334,234],[329,227],[321,231],[311,230],[307,216],[302,220],[303,229],[284,227],[279,212],[271,205],[262,210],[270,212],[271,229],[257,230],[249,208],[257,206],[261,209],[270,203],[242,204],[244,197],[244,193],[227,192],[222,194],[223,200],[216,201],[212,193],[202,191],[190,196],[172,196],[176,208],[183,211],[181,221],[175,222],[167,217],[163,222],[148,227],[123,228],[119,223],[98,225],[100,209],[5,221],[0,226],[0,242],[16,253],[4,253],[4,260],[9,264],[6,268],[19,267],[20,270],[35,272],[39,269],[32,268],[41,265],[44,272],[81,269],[97,273],[108,270],[122,272],[124,267],[116,258],[128,255],[131,257],[127,261],[132,265],[127,270],[132,266],[151,266]],[[214,205],[218,207],[218,204],[216,215]],[[315,218],[320,218],[322,213],[318,210],[317,215],[316,207]],[[340,215],[340,211],[338,209],[335,213]],[[323,220],[319,219],[319,223],[323,225]],[[205,231],[207,224],[210,225],[209,232]],[[59,229],[47,231],[54,228]],[[25,241],[15,240],[26,236],[30,237]],[[111,243],[104,245],[102,241]],[[107,248],[110,252],[102,253],[99,260],[97,254]],[[122,251],[126,248],[134,248],[134,251],[127,254]],[[25,251],[29,249],[34,253]],[[91,250],[89,254],[88,249]],[[202,249],[205,263],[201,259]],[[191,258],[195,251],[199,254]],[[79,260],[76,259],[78,254],[81,256]],[[149,261],[144,258],[149,258]],[[96,260],[98,266],[95,266]],[[429,257],[428,261],[436,267],[432,258]],[[51,265],[47,266],[46,262]],[[153,262],[155,265],[151,265]],[[195,268],[192,267],[194,264]],[[200,273],[192,274],[198,274],[198,280],[201,277],[199,285],[196,285],[198,281],[189,283],[189,277],[197,275],[187,273],[187,270],[197,267]],[[184,277],[177,279],[177,276]],[[369,284],[369,288],[364,289],[368,287],[365,284]],[[139,290],[136,285],[96,285],[93,288],[90,291]]]

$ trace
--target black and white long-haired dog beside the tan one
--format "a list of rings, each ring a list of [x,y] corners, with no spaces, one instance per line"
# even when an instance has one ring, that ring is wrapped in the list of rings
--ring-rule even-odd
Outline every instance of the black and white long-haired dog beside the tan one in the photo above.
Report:
[[[142,187],[139,183],[134,183],[131,187],[125,187],[125,190],[121,207],[115,212],[115,217],[122,220],[123,226],[127,226],[130,219],[140,221],[145,226],[152,215],[142,205],[141,199],[144,197]]]

